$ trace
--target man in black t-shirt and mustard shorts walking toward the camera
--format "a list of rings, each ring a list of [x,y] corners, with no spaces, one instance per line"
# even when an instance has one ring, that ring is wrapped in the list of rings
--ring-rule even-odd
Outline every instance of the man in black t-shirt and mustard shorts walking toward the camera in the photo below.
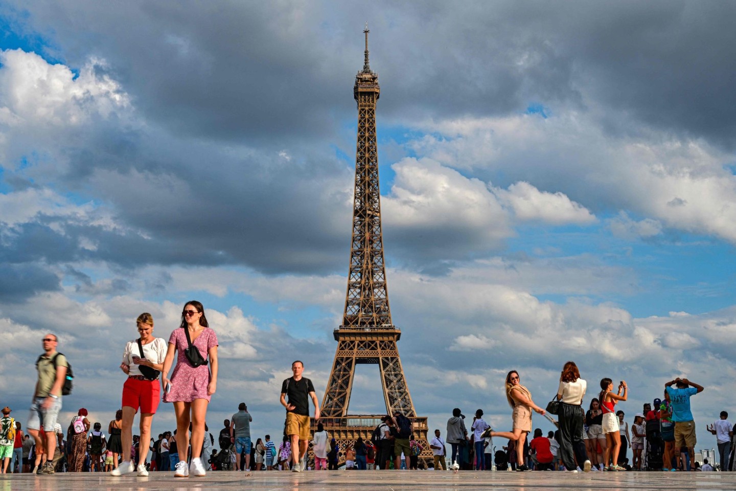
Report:
[[[300,472],[306,469],[307,447],[309,445],[309,398],[314,403],[314,419],[319,420],[319,403],[314,393],[314,385],[302,377],[304,364],[297,360],[291,364],[294,376],[281,384],[281,405],[286,408],[286,434],[291,438],[291,470]],[[289,402],[286,401],[289,396]],[[300,459],[301,456],[301,459]]]

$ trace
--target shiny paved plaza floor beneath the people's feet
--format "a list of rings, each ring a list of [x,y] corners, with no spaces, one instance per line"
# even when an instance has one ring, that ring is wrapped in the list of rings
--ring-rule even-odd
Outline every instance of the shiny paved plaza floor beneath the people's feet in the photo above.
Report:
[[[243,473],[212,472],[205,478],[174,478],[173,473],[151,473],[147,478],[114,478],[97,473],[0,475],[0,491],[92,490],[255,490],[255,491],[446,491],[486,490],[736,490],[736,473],[562,473],[465,471],[307,471]]]

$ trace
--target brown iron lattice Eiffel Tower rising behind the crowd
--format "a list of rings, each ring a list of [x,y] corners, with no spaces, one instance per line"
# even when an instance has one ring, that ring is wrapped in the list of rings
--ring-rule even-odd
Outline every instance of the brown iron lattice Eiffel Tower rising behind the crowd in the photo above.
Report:
[[[378,74],[368,60],[368,26],[363,70],[355,76],[353,95],[358,103],[358,142],[355,152],[355,200],[350,273],[342,325],[333,332],[337,351],[322,400],[321,419],[341,448],[358,437],[369,439],[381,414],[347,414],[356,364],[378,364],[386,413],[411,420],[414,437],[424,449],[420,460],[430,461],[427,418],[417,417],[411,401],[396,343],[401,331],[392,323],[381,233],[381,196],[378,191],[378,148],[375,103],[381,93]],[[316,425],[314,420],[313,425]],[[341,462],[342,462],[341,458]],[[408,465],[408,456],[406,456]]]

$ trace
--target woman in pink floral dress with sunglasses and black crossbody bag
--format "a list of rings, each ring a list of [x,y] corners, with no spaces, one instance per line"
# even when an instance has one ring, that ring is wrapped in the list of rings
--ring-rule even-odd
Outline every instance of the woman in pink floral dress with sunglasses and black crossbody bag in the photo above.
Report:
[[[189,333],[192,347],[197,348],[202,358],[209,358],[208,364],[192,366],[185,355],[189,347],[186,334]],[[169,379],[169,370],[177,353],[177,365]],[[205,308],[196,300],[187,302],[182,312],[180,328],[174,329],[169,337],[169,350],[163,361],[161,383],[165,392],[163,400],[174,403],[177,416],[177,447],[179,463],[174,477],[205,476],[202,462],[202,444],[205,441],[205,419],[210,397],[217,389],[217,335],[209,328]],[[187,467],[189,447],[189,423],[191,423],[191,464]]]

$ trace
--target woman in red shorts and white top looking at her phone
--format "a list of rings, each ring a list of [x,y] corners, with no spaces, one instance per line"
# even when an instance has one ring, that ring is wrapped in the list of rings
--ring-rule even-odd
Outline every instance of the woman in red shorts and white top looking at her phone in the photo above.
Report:
[[[123,351],[123,362],[120,365],[120,370],[128,375],[123,385],[123,423],[120,434],[123,462],[110,472],[111,476],[135,472],[135,464],[130,460],[133,418],[138,409],[141,409],[141,442],[148,442],[151,436],[151,421],[158,408],[161,394],[158,376],[163,370],[163,360],[166,357],[166,341],[153,336],[151,314],[144,312],[135,322],[141,337],[127,342]],[[138,476],[148,476],[146,470],[148,452],[140,453]]]

